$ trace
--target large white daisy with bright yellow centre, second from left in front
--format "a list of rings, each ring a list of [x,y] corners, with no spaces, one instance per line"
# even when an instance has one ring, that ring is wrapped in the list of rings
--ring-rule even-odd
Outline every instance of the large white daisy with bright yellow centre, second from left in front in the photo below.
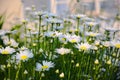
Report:
[[[33,53],[29,50],[20,51],[16,54],[16,59],[19,61],[27,61],[29,58],[33,57]]]

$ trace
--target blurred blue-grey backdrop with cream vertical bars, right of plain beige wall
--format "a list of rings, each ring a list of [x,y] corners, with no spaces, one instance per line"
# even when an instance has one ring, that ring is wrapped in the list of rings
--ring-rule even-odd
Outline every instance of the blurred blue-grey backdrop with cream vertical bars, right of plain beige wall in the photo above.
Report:
[[[24,8],[34,5],[58,15],[82,13],[113,17],[120,13],[120,0],[22,0]]]

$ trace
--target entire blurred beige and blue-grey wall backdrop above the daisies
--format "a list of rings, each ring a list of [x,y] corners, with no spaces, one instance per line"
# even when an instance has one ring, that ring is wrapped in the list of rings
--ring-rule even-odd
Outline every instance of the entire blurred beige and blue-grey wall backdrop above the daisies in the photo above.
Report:
[[[120,21],[120,0],[0,0],[0,16],[4,16],[5,20],[3,29],[11,29],[18,18],[20,21],[25,19],[26,11],[31,8],[62,17],[85,14],[89,17],[112,18],[113,21],[117,17]]]

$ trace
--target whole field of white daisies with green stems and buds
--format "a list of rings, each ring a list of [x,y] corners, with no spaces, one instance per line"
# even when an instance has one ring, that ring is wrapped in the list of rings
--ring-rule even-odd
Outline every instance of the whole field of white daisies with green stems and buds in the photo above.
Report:
[[[0,30],[0,80],[119,80],[120,30],[105,20],[28,9]]]

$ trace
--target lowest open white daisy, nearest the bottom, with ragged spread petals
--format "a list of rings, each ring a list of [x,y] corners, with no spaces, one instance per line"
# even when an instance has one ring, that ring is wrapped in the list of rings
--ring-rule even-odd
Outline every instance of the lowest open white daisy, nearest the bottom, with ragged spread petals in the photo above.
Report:
[[[42,64],[36,63],[36,71],[49,71],[49,69],[53,67],[54,63],[51,61],[42,61]]]

